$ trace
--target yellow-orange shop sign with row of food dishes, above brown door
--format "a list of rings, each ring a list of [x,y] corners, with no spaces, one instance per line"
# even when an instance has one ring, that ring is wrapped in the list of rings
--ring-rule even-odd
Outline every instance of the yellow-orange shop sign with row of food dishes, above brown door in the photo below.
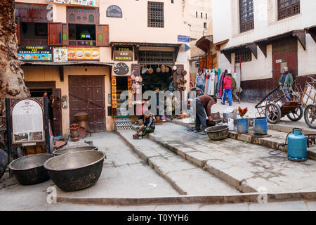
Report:
[[[68,60],[88,60],[98,61],[100,60],[100,48],[91,47],[68,47],[67,50]]]

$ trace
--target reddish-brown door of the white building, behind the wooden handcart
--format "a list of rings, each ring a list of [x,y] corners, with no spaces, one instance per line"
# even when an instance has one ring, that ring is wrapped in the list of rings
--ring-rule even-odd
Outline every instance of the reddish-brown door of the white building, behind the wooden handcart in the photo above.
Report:
[[[272,86],[275,89],[279,85],[279,78],[282,75],[284,66],[295,79],[298,76],[298,43],[294,37],[282,39],[272,44]]]

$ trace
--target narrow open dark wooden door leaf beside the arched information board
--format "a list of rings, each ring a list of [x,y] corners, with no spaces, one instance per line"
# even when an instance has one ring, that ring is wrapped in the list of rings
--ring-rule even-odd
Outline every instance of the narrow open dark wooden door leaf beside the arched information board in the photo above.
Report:
[[[53,96],[55,98],[55,105],[53,107],[53,135],[62,135],[62,108],[61,108],[61,89],[53,89]]]

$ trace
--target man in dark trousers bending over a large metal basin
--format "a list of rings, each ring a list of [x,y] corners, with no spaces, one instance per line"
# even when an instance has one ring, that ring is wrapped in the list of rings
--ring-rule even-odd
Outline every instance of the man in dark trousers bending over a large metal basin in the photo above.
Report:
[[[206,126],[206,116],[209,118],[209,121],[213,121],[211,117],[211,108],[212,105],[216,104],[216,99],[212,98],[209,95],[202,95],[195,98],[195,133],[202,131],[203,135],[206,135],[205,129]],[[205,110],[205,111],[204,111]],[[205,116],[206,112],[206,116]],[[202,127],[202,130],[201,130]]]

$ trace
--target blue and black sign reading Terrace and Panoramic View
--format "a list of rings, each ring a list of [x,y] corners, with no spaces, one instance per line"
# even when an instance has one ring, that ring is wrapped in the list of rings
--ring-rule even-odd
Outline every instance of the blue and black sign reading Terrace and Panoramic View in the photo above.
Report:
[[[51,61],[51,46],[19,46],[18,58],[23,61]]]

